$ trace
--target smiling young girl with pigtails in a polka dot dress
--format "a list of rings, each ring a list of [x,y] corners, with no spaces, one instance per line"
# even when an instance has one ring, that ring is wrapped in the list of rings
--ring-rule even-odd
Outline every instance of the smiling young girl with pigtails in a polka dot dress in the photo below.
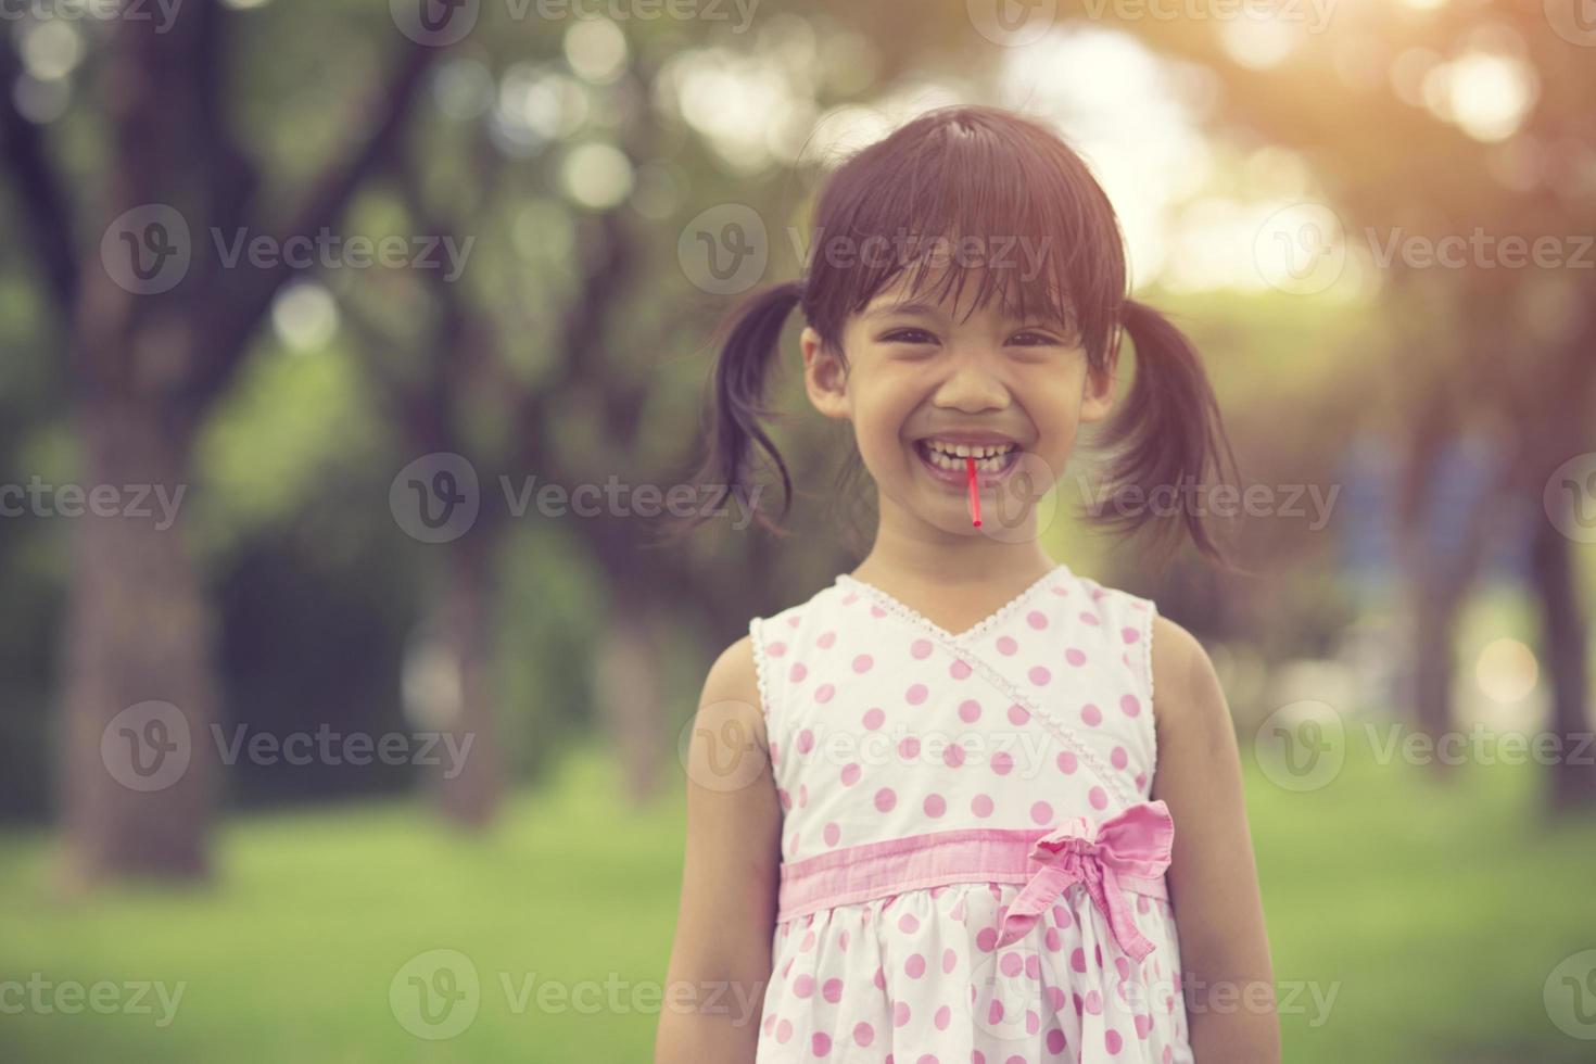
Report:
[[[1149,506],[1229,445],[1195,351],[1125,295],[1103,190],[1045,126],[943,108],[832,175],[811,258],[731,319],[709,471],[742,490],[758,443],[790,496],[758,413],[801,306],[879,523],[710,668],[656,1061],[1278,1061],[1213,667],[1039,544],[1031,496],[1106,421],[1112,523],[1221,560],[1200,507]]]

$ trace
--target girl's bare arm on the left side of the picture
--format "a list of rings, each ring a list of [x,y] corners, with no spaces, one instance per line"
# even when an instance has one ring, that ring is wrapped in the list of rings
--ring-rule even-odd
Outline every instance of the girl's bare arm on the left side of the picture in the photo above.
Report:
[[[771,978],[780,825],[744,636],[710,667],[693,721],[681,908],[654,1064],[752,1064]]]

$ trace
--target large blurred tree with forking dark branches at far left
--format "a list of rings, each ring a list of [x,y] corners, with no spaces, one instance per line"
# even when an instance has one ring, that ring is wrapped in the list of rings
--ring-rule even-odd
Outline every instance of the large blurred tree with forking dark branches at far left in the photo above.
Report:
[[[284,223],[271,225],[257,199],[260,160],[241,142],[228,107],[225,64],[239,18],[220,0],[195,0],[169,26],[110,24],[91,88],[109,140],[105,172],[102,187],[80,203],[67,195],[73,182],[62,179],[46,131],[18,108],[27,75],[16,38],[0,45],[5,171],[27,204],[21,220],[43,295],[69,337],[88,485],[176,491],[188,482],[195,432],[290,274],[286,257],[271,268],[225,270],[196,254],[204,234],[249,230],[271,234],[281,249],[289,238],[310,239],[335,223],[407,121],[437,54],[415,45],[399,56],[356,126],[365,136],[300,190]],[[172,219],[198,244],[188,244]],[[81,231],[91,239],[81,241]],[[161,271],[174,262],[187,270],[163,289],[172,274]],[[72,881],[207,874],[215,774],[209,726],[220,697],[212,617],[180,510],[166,530],[93,510],[78,520],[61,743],[64,871]],[[187,745],[188,766],[166,786],[131,790],[107,770],[102,737],[123,708],[152,700],[176,707],[180,718],[161,723],[185,726],[187,739],[172,731],[144,737]]]

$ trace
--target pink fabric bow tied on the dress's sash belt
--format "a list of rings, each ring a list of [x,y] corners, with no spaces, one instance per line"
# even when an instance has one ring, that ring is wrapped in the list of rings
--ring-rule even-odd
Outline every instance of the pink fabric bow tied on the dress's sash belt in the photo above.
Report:
[[[1004,914],[998,948],[1018,941],[1071,884],[1085,884],[1092,903],[1108,919],[1119,948],[1141,960],[1152,943],[1130,917],[1120,876],[1157,881],[1170,866],[1175,822],[1162,801],[1136,802],[1100,825],[1073,817],[1031,847],[1042,868],[1031,876]]]

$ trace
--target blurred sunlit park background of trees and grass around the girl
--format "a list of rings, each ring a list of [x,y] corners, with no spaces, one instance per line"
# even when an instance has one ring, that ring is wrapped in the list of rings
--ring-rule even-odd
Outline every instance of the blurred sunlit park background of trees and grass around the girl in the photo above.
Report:
[[[27,0],[0,73],[0,1059],[650,1059],[704,673],[859,558],[796,316],[798,534],[656,542],[707,340],[951,102],[1088,160],[1256,488],[1251,576],[1044,534],[1223,673],[1286,1059],[1596,1059],[1588,0]]]

